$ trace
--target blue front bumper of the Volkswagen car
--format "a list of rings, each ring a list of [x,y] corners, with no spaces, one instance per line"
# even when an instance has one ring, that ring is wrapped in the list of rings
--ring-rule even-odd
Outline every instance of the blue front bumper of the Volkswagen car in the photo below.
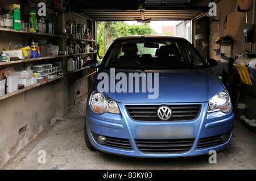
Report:
[[[225,149],[233,133],[233,110],[207,113],[208,103],[196,104],[201,104],[201,110],[190,121],[135,121],[126,110],[129,104],[118,103],[119,115],[107,112],[97,115],[88,106],[89,140],[98,150],[130,157],[189,157]],[[162,128],[166,133],[161,133]],[[147,134],[140,134],[144,130]],[[152,134],[148,134],[150,130]],[[170,134],[175,131],[179,137]],[[220,141],[223,134],[226,139]],[[100,135],[107,141],[98,141]]]

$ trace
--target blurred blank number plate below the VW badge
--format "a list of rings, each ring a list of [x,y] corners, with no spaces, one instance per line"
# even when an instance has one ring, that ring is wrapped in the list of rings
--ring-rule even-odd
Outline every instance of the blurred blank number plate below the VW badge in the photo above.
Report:
[[[135,127],[137,139],[177,139],[193,138],[193,125],[138,125]]]

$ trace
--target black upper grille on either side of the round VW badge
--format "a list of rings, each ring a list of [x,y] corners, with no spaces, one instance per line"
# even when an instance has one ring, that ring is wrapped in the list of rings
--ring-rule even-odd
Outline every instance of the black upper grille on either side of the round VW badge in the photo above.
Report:
[[[156,111],[161,105],[127,106],[130,117],[136,121],[162,121],[156,116]],[[201,105],[166,105],[172,110],[171,119],[168,121],[194,120],[199,115]]]

